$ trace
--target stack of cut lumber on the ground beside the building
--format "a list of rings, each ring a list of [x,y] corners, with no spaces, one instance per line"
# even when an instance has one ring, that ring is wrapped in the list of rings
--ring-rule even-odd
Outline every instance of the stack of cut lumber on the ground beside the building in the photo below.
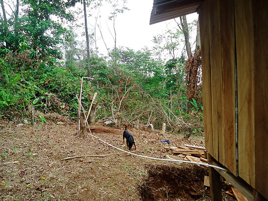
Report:
[[[172,151],[173,154],[178,155],[182,160],[189,160],[197,163],[207,164],[205,156],[205,150],[199,148],[193,148],[189,146],[166,147],[167,151]],[[169,156],[171,157],[171,156]]]

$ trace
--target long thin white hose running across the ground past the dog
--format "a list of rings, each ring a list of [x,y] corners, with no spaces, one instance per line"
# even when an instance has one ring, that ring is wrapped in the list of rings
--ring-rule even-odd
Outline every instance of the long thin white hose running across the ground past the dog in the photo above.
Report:
[[[92,134],[90,134],[92,135]],[[92,135],[93,137],[97,138],[95,135]],[[154,158],[154,157],[149,157],[149,156],[144,156],[144,155],[139,155],[139,154],[136,154],[136,153],[132,153],[130,151],[124,151],[118,147],[115,147],[99,138],[97,138],[98,140],[100,140],[101,142],[104,142],[105,144],[117,149],[117,150],[120,150],[120,151],[123,151],[123,152],[126,152],[126,153],[129,153],[129,154],[132,154],[132,155],[135,155],[135,156],[139,156],[139,157],[143,157],[143,158],[149,158],[149,159],[153,159],[153,160],[164,160],[164,161],[172,161],[172,162],[181,162],[181,163],[193,163],[193,164],[197,164],[197,165],[204,165],[204,166],[208,166],[208,167],[212,167],[212,168],[218,168],[219,170],[223,170],[223,171],[228,171],[224,168],[221,168],[221,167],[218,167],[218,166],[215,166],[215,165],[210,165],[210,164],[205,164],[205,163],[198,163],[198,162],[193,162],[193,161],[186,161],[186,160],[171,160],[171,159],[164,159],[164,158]]]

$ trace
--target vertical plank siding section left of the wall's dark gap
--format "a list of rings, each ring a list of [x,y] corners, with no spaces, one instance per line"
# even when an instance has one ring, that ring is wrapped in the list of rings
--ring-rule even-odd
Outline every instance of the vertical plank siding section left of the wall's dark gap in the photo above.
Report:
[[[236,175],[233,0],[206,0],[200,27],[206,149]]]

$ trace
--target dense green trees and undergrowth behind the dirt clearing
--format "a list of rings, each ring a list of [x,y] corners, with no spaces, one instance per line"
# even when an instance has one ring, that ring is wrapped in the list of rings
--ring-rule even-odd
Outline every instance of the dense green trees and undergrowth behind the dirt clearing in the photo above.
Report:
[[[76,95],[81,77],[87,76],[87,59],[83,45],[75,40],[73,28],[64,28],[62,22],[73,20],[66,10],[78,1],[23,0],[23,17],[15,20],[12,16],[7,23],[1,21],[0,41],[6,43],[0,48],[2,117],[26,116],[28,105],[44,113],[67,113],[76,117]],[[110,20],[115,21],[117,14],[127,8],[124,4],[120,6],[119,1],[110,2],[114,5]],[[180,37],[179,31],[168,30],[166,35],[154,38],[154,50],[115,47],[107,57],[97,56],[91,50],[94,79],[83,83],[85,109],[90,104],[89,95],[98,92],[98,119],[110,117],[111,108],[113,113],[120,110],[124,121],[136,121],[135,117],[142,114],[139,120],[147,122],[150,111],[153,111],[151,121],[156,127],[161,126],[167,117],[171,124],[176,124],[176,116],[183,120],[193,118],[192,114],[186,113],[185,60],[183,56],[175,56]],[[59,62],[62,54],[59,45],[63,42],[65,61]],[[161,57],[166,54],[163,52],[169,51],[172,59],[164,62]],[[199,119],[200,100],[192,100],[196,119]],[[44,116],[38,117],[41,122],[47,122]]]

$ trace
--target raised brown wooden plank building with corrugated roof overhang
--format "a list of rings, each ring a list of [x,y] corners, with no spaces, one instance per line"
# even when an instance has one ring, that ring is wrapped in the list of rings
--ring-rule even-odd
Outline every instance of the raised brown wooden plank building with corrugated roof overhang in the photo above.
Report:
[[[194,12],[210,162],[248,200],[268,200],[268,0],[154,0],[150,24]]]

